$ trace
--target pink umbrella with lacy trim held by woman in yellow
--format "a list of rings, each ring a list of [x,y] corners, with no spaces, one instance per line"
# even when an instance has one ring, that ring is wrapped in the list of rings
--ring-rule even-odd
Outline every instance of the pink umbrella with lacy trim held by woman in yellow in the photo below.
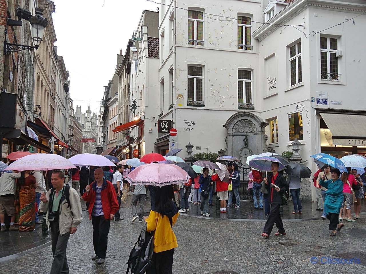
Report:
[[[189,181],[190,176],[178,165],[148,164],[140,165],[128,174],[126,180],[131,184],[145,184],[149,186],[167,186],[182,184]]]

